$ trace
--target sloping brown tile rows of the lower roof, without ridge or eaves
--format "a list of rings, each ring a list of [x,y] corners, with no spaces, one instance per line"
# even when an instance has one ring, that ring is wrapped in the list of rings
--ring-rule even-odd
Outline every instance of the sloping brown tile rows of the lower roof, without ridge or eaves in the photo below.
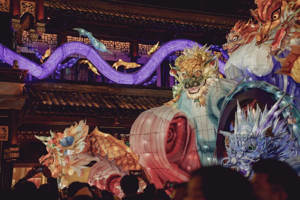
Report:
[[[105,93],[87,93],[80,91],[44,91],[27,89],[32,106],[39,106],[39,112],[53,112],[55,107],[58,113],[88,112],[93,110],[109,111],[113,109],[137,110],[138,113],[162,106],[172,100],[166,97],[146,97],[134,95],[116,95]],[[41,107],[49,109],[41,109]],[[65,109],[68,108],[68,109]],[[79,111],[78,111],[79,109]],[[95,112],[96,114],[98,112]]]

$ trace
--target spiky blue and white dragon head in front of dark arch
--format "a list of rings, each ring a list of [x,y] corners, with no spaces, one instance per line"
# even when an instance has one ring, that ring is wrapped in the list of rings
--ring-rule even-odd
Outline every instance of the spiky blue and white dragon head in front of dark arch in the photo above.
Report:
[[[259,159],[284,160],[299,155],[298,143],[287,130],[287,119],[280,120],[281,112],[289,105],[277,110],[282,98],[270,111],[265,106],[262,112],[257,105],[255,114],[252,114],[252,107],[249,108],[249,105],[246,112],[237,103],[234,133],[220,131],[225,136],[228,156],[221,160],[221,165],[250,178],[252,163]]]

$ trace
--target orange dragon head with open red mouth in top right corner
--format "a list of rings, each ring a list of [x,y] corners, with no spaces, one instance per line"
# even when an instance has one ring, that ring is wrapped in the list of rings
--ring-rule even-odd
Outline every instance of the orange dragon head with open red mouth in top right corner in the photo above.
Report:
[[[256,34],[256,45],[269,45],[270,55],[279,57],[284,49],[289,48],[292,39],[299,37],[298,18],[300,2],[291,0],[257,0],[257,8],[250,10],[260,23]]]

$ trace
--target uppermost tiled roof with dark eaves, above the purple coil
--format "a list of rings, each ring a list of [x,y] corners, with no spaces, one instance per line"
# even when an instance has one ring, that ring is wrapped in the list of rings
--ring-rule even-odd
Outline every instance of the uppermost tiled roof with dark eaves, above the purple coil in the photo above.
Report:
[[[153,41],[163,43],[173,39],[190,39],[217,45],[226,42],[225,36],[236,21],[250,17],[93,0],[45,1],[44,16],[51,18],[46,30],[59,28],[68,34],[74,32],[78,35],[73,28],[80,27],[101,36],[101,39],[115,37],[126,41],[143,40],[149,44]]]

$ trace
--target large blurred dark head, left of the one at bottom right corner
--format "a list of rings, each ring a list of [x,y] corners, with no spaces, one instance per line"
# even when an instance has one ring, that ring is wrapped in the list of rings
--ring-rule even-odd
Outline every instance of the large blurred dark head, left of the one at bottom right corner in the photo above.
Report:
[[[230,168],[201,167],[194,171],[187,183],[187,200],[254,200],[247,178]]]

